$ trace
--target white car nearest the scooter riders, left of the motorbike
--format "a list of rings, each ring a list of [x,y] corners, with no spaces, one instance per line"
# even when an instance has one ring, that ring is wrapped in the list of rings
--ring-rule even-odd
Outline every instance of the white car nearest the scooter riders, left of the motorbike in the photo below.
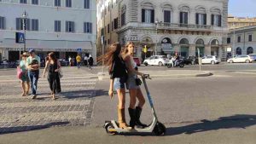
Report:
[[[152,66],[166,66],[169,62],[165,55],[154,55],[149,57],[148,59],[143,61],[145,66],[152,65]]]

